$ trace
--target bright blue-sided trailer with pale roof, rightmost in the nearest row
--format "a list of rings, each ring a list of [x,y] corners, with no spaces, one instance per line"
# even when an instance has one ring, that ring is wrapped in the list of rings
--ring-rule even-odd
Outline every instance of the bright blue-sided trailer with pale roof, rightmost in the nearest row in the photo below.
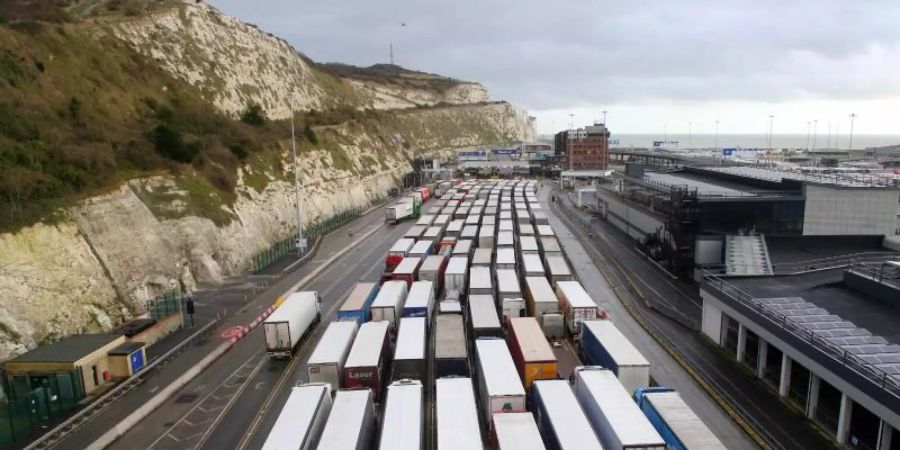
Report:
[[[681,394],[667,387],[638,388],[638,408],[647,416],[671,450],[718,450],[719,438],[697,417]]]

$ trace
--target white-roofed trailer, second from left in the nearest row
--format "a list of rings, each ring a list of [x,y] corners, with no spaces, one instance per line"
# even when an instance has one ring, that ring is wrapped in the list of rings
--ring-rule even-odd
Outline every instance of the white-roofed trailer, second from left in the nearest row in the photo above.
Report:
[[[320,449],[368,450],[375,445],[375,399],[371,389],[341,389],[319,440]]]

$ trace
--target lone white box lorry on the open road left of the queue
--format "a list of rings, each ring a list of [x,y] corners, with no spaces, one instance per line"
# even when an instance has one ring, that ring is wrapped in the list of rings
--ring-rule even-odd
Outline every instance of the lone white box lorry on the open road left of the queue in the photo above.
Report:
[[[316,291],[294,292],[263,321],[266,353],[272,358],[290,358],[300,339],[321,317],[322,300]]]

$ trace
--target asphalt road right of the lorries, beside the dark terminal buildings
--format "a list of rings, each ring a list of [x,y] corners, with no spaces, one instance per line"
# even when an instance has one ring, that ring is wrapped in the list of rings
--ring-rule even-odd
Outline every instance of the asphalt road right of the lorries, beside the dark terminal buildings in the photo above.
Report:
[[[678,302],[682,308],[693,309],[692,306],[686,305],[689,303],[689,300],[686,299],[689,295],[684,292],[684,286],[673,282],[657,267],[639,256],[634,250],[633,242],[624,233],[602,220],[591,219],[583,212],[571,209],[564,211],[566,219],[586,221],[595,236],[593,242],[597,242],[598,245],[590,245],[587,250],[579,245],[581,250],[574,252],[588,258],[593,257],[594,263],[591,266],[596,267],[596,261],[609,261],[609,258],[614,258],[618,265],[628,271],[630,278],[641,290],[654,292],[662,298]],[[566,251],[571,257],[573,252],[570,252],[568,247]],[[583,253],[586,251],[592,252],[592,255]],[[637,300],[624,287],[626,280],[623,278],[623,274],[616,271],[613,264],[601,264],[606,266],[607,273],[612,274],[613,282],[616,283],[616,292],[622,296],[623,300],[630,301],[641,316],[691,364],[697,373],[716,388],[721,395],[729,399],[736,409],[755,422],[754,425],[760,434],[768,435],[769,439],[777,442],[776,447],[788,449],[833,447],[830,440],[809,426],[805,417],[785,406],[748,370],[738,367],[733,360],[724,356],[698,332],[687,329]],[[616,297],[610,298],[617,299]],[[685,401],[729,448],[732,448],[732,445],[735,446],[734,448],[743,448],[745,445],[755,446],[692,379],[686,378],[686,372],[668,353],[662,351],[656,341],[624,310],[619,301],[607,300],[607,303],[612,308],[612,318],[616,321],[617,326],[623,329],[623,333],[642,352],[645,352],[645,355],[654,364],[651,376],[657,382],[681,391]],[[662,361],[662,363],[657,361]]]

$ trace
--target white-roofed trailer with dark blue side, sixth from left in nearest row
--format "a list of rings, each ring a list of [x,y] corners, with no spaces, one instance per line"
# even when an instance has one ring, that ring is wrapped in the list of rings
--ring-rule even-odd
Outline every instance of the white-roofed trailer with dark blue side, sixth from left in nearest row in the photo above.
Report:
[[[547,448],[603,450],[567,381],[535,382],[531,390],[531,408]]]

